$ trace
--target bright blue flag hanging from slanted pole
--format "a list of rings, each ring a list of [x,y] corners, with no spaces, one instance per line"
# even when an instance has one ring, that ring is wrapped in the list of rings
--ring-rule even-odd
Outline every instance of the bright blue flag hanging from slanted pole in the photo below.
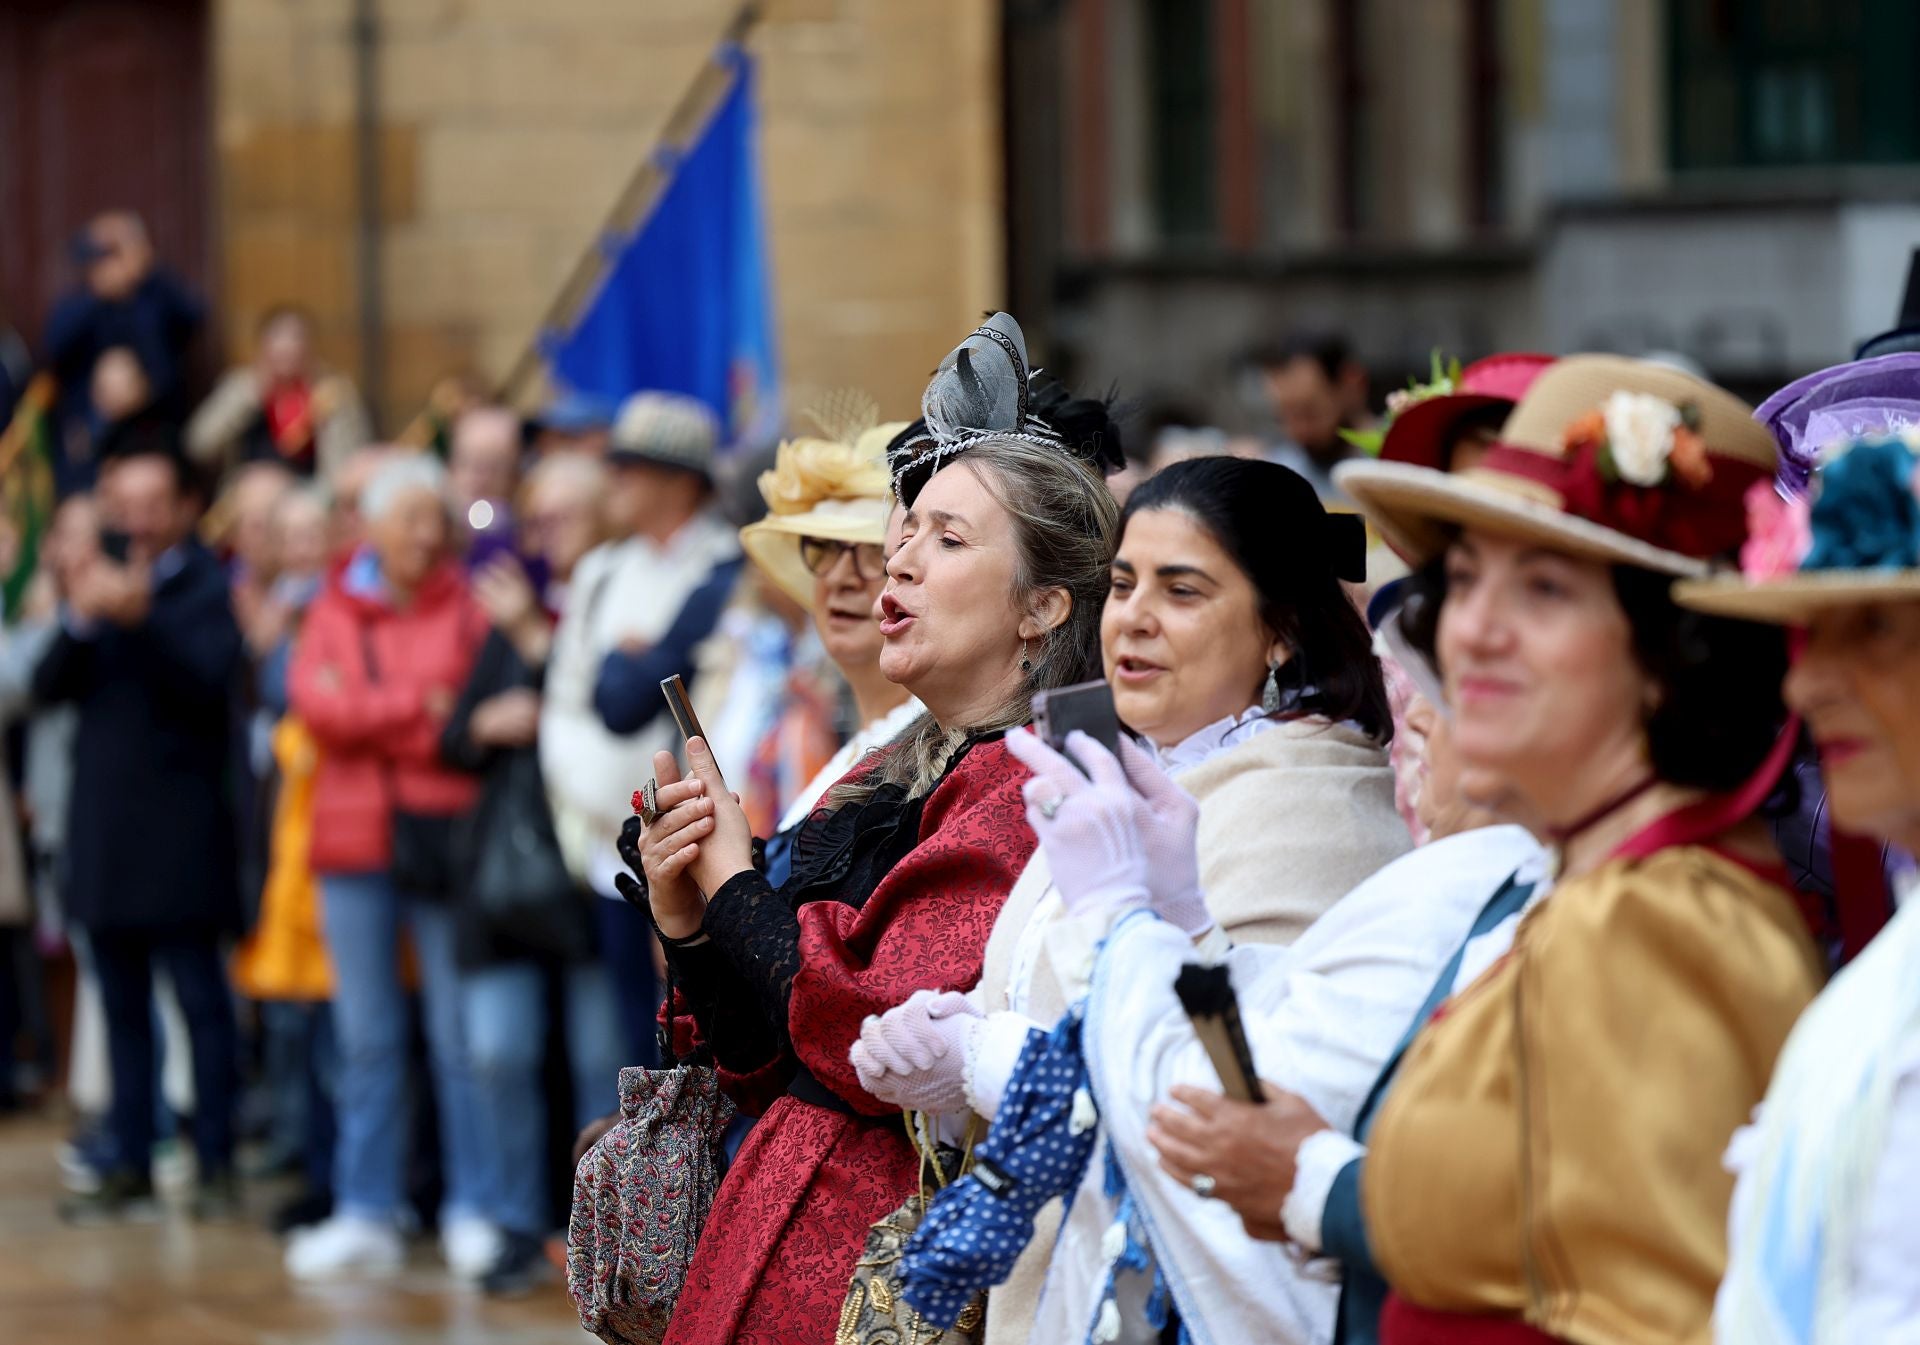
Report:
[[[620,401],[657,389],[699,397],[728,443],[780,432],[774,295],[760,217],[755,69],[745,48],[714,59],[730,86],[639,228],[603,240],[607,272],[572,330],[541,334],[555,382]]]

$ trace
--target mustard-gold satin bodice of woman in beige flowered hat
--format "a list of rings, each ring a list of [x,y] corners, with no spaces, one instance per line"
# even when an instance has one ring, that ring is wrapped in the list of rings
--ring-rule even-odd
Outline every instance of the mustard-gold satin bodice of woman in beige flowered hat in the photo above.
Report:
[[[1720,1155],[1822,979],[1795,898],[1718,850],[1557,886],[1373,1128],[1361,1203],[1394,1295],[1576,1345],[1709,1341]]]

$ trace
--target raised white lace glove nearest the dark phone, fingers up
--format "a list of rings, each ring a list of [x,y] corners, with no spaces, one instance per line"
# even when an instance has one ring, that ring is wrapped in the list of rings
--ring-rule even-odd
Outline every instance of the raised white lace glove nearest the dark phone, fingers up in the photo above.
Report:
[[[1068,748],[1087,775],[1027,729],[1006,735],[1008,750],[1033,779],[1021,787],[1027,823],[1046,850],[1054,888],[1068,915],[1119,917],[1148,906],[1144,800],[1133,792],[1114,754],[1085,733]]]

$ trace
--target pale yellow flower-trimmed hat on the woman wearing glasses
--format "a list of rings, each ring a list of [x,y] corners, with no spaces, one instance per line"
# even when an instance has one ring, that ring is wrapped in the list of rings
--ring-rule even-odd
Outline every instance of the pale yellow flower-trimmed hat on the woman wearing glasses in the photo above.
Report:
[[[858,395],[841,397],[812,418],[822,436],[780,445],[774,470],[760,474],[768,516],[739,533],[753,562],[806,608],[814,604],[814,576],[801,556],[801,539],[885,543],[893,510],[887,443],[906,428],[876,424],[879,409]]]

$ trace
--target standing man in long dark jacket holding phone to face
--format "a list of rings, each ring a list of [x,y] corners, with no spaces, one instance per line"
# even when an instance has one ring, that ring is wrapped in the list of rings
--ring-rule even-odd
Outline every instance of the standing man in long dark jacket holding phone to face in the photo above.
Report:
[[[196,1215],[234,1211],[234,1019],[219,936],[238,923],[228,723],[240,629],[219,562],[194,537],[184,459],[154,424],[100,480],[104,555],[81,570],[35,673],[79,708],[63,890],[100,977],[113,1067],[115,1165],[75,1218],[154,1197],[154,967],[194,1055]]]

